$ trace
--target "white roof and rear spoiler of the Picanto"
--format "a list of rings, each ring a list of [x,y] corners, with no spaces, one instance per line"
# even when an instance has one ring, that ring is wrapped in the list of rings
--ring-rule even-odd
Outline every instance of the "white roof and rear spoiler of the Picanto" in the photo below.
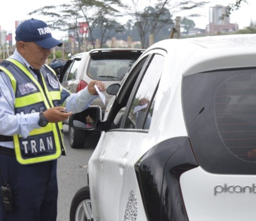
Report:
[[[153,44],[145,53],[157,48],[167,52],[169,65],[183,76],[256,66],[256,34],[167,39]]]

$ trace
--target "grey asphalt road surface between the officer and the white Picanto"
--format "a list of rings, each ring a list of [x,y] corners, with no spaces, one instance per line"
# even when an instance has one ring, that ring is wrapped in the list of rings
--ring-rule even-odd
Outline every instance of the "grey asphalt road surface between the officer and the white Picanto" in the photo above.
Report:
[[[58,216],[57,221],[70,220],[70,204],[75,193],[87,185],[87,165],[94,148],[72,149],[68,126],[64,125],[67,156],[58,159]]]

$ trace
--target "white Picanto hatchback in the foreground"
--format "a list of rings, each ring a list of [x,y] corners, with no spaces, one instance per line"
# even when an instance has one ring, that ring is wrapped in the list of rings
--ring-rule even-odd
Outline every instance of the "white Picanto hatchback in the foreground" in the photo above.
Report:
[[[255,221],[256,34],[153,44],[100,112],[71,221]]]

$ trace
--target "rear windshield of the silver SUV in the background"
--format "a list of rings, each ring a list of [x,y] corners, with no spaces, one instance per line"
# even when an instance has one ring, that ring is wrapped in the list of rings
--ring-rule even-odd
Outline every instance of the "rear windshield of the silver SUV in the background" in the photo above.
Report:
[[[100,53],[92,55],[87,75],[94,80],[121,81],[141,53]]]

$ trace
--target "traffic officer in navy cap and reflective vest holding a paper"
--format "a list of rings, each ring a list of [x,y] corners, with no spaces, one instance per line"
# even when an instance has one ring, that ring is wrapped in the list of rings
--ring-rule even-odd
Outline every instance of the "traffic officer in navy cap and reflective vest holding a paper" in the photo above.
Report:
[[[15,33],[16,50],[0,63],[0,221],[56,221],[62,121],[92,103],[94,85],[105,85],[91,81],[70,94],[45,65],[62,45],[47,24],[26,20]]]

